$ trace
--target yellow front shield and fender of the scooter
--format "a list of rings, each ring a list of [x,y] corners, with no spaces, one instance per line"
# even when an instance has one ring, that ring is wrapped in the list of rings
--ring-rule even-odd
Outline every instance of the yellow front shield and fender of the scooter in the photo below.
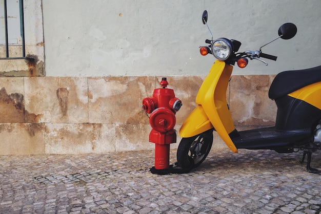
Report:
[[[180,128],[179,134],[181,137],[192,137],[209,130],[209,120],[228,147],[233,152],[237,152],[237,148],[229,136],[229,133],[234,131],[235,127],[226,101],[226,90],[232,70],[233,67],[226,65],[224,61],[215,61],[210,73],[198,90],[196,110],[188,116]],[[199,106],[202,106],[202,111],[200,111]],[[197,129],[197,127],[202,127],[202,129]]]

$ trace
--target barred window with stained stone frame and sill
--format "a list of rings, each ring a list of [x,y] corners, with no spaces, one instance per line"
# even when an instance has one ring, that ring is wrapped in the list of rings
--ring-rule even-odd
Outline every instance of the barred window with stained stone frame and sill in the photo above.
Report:
[[[0,77],[45,76],[42,0],[0,0]]]

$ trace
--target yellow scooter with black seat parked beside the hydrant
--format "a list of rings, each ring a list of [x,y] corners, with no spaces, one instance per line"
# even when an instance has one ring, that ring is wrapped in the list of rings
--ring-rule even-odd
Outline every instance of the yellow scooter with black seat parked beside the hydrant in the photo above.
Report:
[[[207,18],[208,13],[204,11],[203,24],[212,35]],[[279,28],[277,38],[290,39],[296,31],[294,24],[286,23]],[[308,172],[318,173],[310,163],[312,152],[321,149],[321,66],[277,74],[269,90],[269,98],[275,100],[277,105],[275,126],[238,132],[226,99],[235,62],[238,67],[244,68],[248,59],[268,65],[261,58],[276,60],[277,57],[262,53],[265,45],[258,51],[237,53],[241,45],[237,40],[213,40],[212,35],[206,43],[209,45],[200,47],[200,53],[212,54],[216,61],[197,93],[196,108],[179,130],[182,140],[177,149],[177,167],[188,172],[200,165],[210,152],[213,131],[216,131],[234,153],[241,148],[271,149],[278,153],[303,151],[302,162],[308,156]]]

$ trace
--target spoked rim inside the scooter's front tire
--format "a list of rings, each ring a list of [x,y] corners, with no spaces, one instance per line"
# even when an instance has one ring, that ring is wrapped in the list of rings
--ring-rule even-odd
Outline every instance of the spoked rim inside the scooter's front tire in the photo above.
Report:
[[[193,160],[194,164],[202,161],[204,156],[207,155],[209,143],[206,143],[205,136],[198,136],[189,148],[189,159]]]

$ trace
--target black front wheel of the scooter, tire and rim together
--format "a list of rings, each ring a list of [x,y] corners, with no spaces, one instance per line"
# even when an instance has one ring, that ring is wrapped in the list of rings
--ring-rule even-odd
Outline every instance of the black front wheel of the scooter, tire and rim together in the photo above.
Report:
[[[182,168],[199,166],[209,154],[213,144],[213,130],[189,138],[182,138],[177,148],[177,165]]]

